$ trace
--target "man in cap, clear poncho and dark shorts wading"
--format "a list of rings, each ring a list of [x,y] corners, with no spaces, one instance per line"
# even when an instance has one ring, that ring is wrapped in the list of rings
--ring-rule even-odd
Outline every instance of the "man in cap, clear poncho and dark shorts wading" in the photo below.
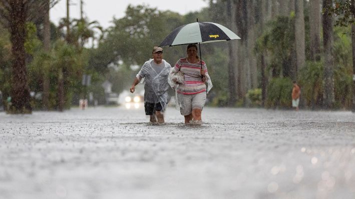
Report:
[[[163,59],[163,48],[154,46],[153,59],[146,61],[134,78],[130,91],[144,80],[144,110],[150,115],[150,122],[164,123],[165,108],[168,104],[168,75],[171,65]]]

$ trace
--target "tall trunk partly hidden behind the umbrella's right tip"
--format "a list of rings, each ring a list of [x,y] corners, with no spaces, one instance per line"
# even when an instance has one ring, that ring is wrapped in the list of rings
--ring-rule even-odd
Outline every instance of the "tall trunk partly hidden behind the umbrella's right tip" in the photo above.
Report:
[[[233,32],[237,31],[235,4],[233,0],[227,0],[226,18],[229,21],[230,29]],[[236,67],[237,67],[237,46],[235,42],[228,42],[229,62],[228,62],[228,105],[234,106],[237,101],[237,83],[236,83]]]

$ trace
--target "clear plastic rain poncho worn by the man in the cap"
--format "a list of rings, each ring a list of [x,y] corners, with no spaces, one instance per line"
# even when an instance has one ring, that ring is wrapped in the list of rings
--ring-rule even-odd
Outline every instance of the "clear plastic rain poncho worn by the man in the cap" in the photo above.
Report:
[[[144,77],[144,102],[158,103],[162,105],[162,112],[165,111],[168,105],[168,75],[170,72],[171,65],[162,60],[164,63],[164,68],[157,73],[157,71],[152,67],[151,62],[154,59],[146,61],[139,73],[137,74]]]

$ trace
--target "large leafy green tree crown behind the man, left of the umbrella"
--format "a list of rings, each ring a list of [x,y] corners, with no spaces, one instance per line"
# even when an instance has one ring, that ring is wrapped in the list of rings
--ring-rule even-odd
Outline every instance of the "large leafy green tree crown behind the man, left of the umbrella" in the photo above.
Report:
[[[152,57],[152,47],[159,45],[181,21],[181,16],[174,12],[161,12],[145,5],[128,6],[126,16],[114,19],[115,26],[108,29],[105,42],[100,43],[102,51],[108,52],[106,65],[118,60],[127,66],[142,65]]]

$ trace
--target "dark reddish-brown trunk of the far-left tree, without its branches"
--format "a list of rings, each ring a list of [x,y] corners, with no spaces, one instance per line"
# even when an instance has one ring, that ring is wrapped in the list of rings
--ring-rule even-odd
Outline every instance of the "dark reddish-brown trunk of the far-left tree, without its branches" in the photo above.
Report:
[[[25,64],[25,38],[27,7],[21,1],[11,2],[10,32],[12,53],[12,113],[32,113],[30,104],[30,89],[27,82]]]

